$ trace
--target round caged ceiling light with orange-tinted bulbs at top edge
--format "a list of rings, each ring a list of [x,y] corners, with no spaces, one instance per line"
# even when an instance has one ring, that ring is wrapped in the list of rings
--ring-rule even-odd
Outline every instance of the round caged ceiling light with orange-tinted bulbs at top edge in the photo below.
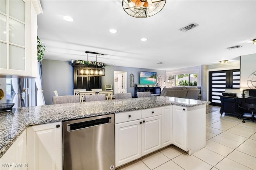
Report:
[[[166,0],[123,0],[124,11],[136,18],[146,18],[164,8]]]

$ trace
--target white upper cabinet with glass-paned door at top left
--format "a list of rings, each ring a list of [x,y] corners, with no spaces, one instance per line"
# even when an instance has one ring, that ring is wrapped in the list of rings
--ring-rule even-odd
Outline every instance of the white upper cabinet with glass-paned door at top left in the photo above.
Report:
[[[36,77],[39,0],[0,1],[0,76]]]

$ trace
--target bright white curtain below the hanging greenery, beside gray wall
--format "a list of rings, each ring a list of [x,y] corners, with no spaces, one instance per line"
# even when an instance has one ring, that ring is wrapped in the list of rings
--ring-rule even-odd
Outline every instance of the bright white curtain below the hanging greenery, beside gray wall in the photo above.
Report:
[[[37,78],[35,79],[36,87],[37,87],[37,98],[36,98],[37,106],[45,105],[44,94],[43,94],[43,91],[42,91],[40,69],[39,69],[40,65],[41,65],[41,63],[38,62],[38,65],[37,65]]]

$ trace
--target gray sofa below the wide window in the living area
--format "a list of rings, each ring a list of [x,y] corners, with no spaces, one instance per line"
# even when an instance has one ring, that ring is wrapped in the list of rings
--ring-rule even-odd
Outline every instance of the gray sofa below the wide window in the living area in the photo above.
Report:
[[[186,99],[200,99],[201,86],[174,86],[165,88],[160,93],[161,96],[180,97]]]

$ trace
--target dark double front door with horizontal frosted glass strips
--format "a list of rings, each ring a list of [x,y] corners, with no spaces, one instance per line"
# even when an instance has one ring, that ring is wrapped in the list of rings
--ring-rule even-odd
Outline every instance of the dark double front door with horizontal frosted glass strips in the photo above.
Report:
[[[220,96],[226,89],[240,88],[240,69],[209,72],[210,105],[220,106]]]

